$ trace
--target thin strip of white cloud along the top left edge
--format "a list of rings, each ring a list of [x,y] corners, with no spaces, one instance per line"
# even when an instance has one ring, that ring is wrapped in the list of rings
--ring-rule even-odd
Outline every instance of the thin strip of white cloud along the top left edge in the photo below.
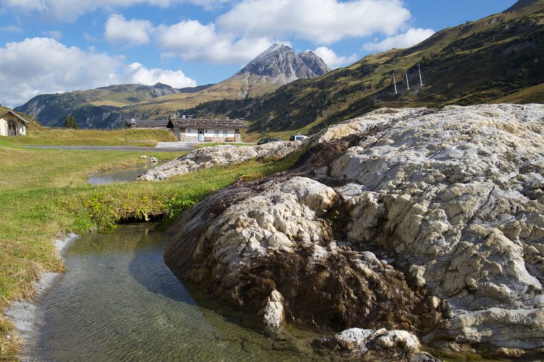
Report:
[[[140,4],[167,8],[179,3],[192,3],[209,10],[230,1],[232,0],[3,0],[1,8],[39,12],[62,21],[75,21],[79,16],[97,9],[114,11]]]

